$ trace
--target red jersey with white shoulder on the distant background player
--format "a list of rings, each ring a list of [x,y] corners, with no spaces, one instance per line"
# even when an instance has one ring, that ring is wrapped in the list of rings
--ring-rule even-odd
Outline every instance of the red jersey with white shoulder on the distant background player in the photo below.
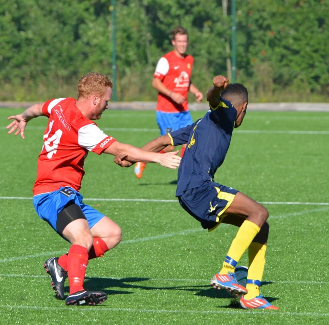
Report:
[[[187,99],[193,62],[191,55],[180,58],[174,51],[169,52],[158,61],[153,77],[159,78],[168,89],[181,93]],[[170,97],[159,93],[157,111],[167,113],[188,111],[187,100],[183,104],[177,104]]]

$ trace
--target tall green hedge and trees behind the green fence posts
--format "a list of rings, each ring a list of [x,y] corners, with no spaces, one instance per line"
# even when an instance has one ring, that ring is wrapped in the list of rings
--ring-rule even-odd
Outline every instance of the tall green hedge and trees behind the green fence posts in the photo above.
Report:
[[[0,0],[0,100],[76,97],[83,74],[113,78],[114,63],[118,101],[156,100],[152,75],[181,25],[204,93],[232,78],[236,52],[250,101],[327,102],[328,20],[327,0]]]

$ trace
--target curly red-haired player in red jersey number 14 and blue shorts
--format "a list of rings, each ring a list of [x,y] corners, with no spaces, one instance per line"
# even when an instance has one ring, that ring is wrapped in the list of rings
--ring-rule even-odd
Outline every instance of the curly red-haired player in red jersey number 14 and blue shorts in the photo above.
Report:
[[[84,175],[83,163],[89,151],[128,155],[130,161],[157,162],[177,168],[181,158],[176,153],[149,153],[120,143],[104,134],[92,120],[100,119],[112,95],[112,81],[100,73],[83,76],[78,84],[78,99],[58,98],[29,107],[7,128],[24,139],[26,124],[32,118],[47,116],[38,159],[37,179],[33,187],[33,204],[42,220],[68,240],[68,254],[51,257],[45,263],[59,299],[64,299],[64,281],[68,274],[70,294],[67,305],[96,305],[107,296],[102,291],[85,291],[83,281],[88,261],[103,256],[121,241],[121,229],[111,219],[85,205],[79,193]]]

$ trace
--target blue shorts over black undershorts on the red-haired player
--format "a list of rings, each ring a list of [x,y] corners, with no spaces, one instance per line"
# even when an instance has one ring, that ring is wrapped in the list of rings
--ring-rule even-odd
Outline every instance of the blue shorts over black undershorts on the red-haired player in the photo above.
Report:
[[[69,189],[69,191],[63,191],[63,189]],[[56,231],[56,222],[58,213],[67,205],[69,202],[73,202],[80,206],[87,222],[89,228],[92,228],[96,225],[104,216],[104,214],[98,212],[89,205],[86,205],[82,202],[82,195],[70,188],[70,187],[61,187],[57,191],[38,194],[33,197],[33,205],[38,216],[47,221],[52,228]]]

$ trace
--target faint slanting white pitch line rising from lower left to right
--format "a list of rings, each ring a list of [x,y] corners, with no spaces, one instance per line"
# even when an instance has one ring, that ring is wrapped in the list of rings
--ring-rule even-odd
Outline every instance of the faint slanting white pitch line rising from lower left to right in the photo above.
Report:
[[[294,212],[294,213],[288,213],[288,214],[282,214],[282,215],[274,215],[270,217],[270,219],[280,219],[280,218],[288,218],[290,216],[296,216],[296,215],[303,215],[303,214],[308,214],[308,213],[313,213],[313,212],[319,212],[319,211],[325,211],[328,208],[321,208],[321,209],[313,209],[313,210],[305,210],[305,211],[300,211],[300,212]],[[226,227],[228,224],[222,224],[220,227]],[[177,231],[177,232],[171,232],[171,233],[165,233],[161,235],[156,235],[156,236],[149,236],[149,237],[143,237],[143,238],[138,238],[138,239],[133,239],[133,240],[126,240],[122,241],[120,245],[123,244],[135,244],[135,243],[141,243],[141,242],[147,242],[147,241],[153,241],[153,240],[158,240],[158,239],[166,239],[174,236],[181,236],[181,235],[186,235],[194,232],[205,232],[203,228],[194,228],[194,229],[187,229],[183,231]],[[34,255],[24,255],[24,256],[14,256],[14,257],[9,257],[9,258],[2,258],[0,259],[0,263],[8,263],[8,262],[14,262],[14,261],[19,261],[21,259],[27,259],[27,258],[35,258],[35,257],[41,257],[41,256],[53,256],[53,255],[58,255],[58,254],[64,254],[66,251],[56,251],[56,252],[44,252],[40,254],[34,254]]]

